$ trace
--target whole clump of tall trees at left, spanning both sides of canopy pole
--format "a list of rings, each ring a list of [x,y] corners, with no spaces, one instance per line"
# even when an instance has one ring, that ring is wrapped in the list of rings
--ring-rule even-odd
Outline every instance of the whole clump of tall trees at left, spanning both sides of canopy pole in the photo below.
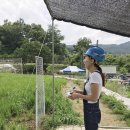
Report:
[[[54,27],[54,44],[55,44],[55,61],[56,63],[64,63],[64,59],[68,56],[66,45],[63,43],[64,36],[61,35],[60,30]],[[37,45],[36,45],[37,43]],[[43,44],[42,50],[44,54],[44,61],[49,63],[52,57],[52,27],[49,26],[47,32],[36,24],[26,24],[23,19],[11,23],[5,20],[4,24],[0,26],[0,55],[12,55],[23,58],[23,61],[34,62],[34,57],[38,54],[40,46]],[[34,48],[36,50],[34,50]],[[31,52],[31,53],[30,53]]]

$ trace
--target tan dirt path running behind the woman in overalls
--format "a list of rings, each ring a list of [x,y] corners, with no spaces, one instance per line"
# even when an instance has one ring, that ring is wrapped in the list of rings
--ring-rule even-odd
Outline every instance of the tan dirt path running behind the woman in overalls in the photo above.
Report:
[[[63,92],[70,91],[72,86],[76,86],[71,80],[68,80],[67,85],[63,88]],[[76,86],[77,89],[78,86]],[[82,100],[74,100],[72,101],[73,109],[80,113],[81,117],[83,117],[83,105]],[[112,110],[110,110],[106,104],[103,104],[100,101],[100,108],[102,113],[102,120],[100,126],[116,126],[116,127],[127,127],[126,123],[120,120],[119,115],[113,114]]]

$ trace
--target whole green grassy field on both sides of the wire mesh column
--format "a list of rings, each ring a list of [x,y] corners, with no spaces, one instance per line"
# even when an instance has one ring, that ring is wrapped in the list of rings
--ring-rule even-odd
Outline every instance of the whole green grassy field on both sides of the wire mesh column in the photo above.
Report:
[[[42,129],[77,124],[68,99],[61,94],[65,79],[55,78],[55,120],[52,120],[52,77],[45,76],[46,117]],[[35,75],[0,74],[0,130],[28,130],[35,127]]]

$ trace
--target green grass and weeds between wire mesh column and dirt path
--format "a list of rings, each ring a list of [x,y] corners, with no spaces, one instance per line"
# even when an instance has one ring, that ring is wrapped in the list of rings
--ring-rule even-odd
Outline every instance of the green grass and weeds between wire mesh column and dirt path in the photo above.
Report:
[[[47,77],[50,81],[50,77]],[[54,120],[52,118],[53,100],[52,100],[52,82],[45,82],[46,86],[46,116],[43,119],[42,128],[51,130],[53,127],[66,124],[80,124],[78,119],[79,114],[75,113],[72,109],[72,104],[62,95],[62,87],[67,80],[56,78],[55,79],[55,98],[54,98]]]

